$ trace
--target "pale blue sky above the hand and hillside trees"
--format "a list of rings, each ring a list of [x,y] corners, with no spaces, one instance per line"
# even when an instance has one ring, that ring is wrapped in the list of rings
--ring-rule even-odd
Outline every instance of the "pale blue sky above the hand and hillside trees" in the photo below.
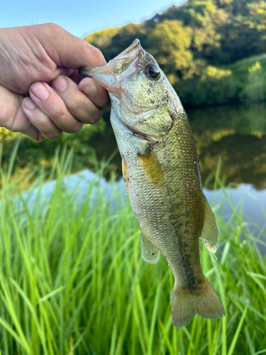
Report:
[[[184,0],[2,0],[0,28],[53,22],[77,37],[140,23]]]

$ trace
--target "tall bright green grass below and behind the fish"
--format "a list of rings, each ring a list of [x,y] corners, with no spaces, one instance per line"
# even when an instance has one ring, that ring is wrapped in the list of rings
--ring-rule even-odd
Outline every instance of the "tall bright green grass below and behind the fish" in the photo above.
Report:
[[[239,214],[228,224],[216,216],[218,261],[201,245],[226,317],[196,315],[175,329],[172,272],[163,256],[155,266],[142,260],[129,202],[116,191],[111,210],[99,190],[89,206],[88,187],[77,208],[60,183],[71,165],[63,152],[48,177],[57,176],[49,203],[18,209],[12,197],[23,200],[31,170],[11,181],[12,160],[1,169],[0,355],[266,354],[265,260]],[[38,173],[33,187],[43,180]]]

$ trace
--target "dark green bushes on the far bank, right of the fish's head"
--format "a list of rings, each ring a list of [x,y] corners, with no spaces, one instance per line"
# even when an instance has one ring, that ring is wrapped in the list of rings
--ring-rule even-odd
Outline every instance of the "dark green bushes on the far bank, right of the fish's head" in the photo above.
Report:
[[[223,67],[206,66],[201,77],[174,85],[184,106],[211,106],[266,100],[266,55]]]

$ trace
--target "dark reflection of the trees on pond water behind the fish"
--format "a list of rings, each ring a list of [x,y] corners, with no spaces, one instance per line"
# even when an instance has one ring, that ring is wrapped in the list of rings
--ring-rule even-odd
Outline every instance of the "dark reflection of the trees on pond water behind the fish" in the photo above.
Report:
[[[214,187],[220,157],[220,178],[226,185],[244,182],[257,190],[266,188],[266,103],[193,109],[187,114],[199,154],[203,184],[208,181],[207,187]],[[116,149],[110,124],[102,136],[98,133],[90,143],[96,148],[98,158],[108,158]],[[113,158],[112,165],[120,173],[119,154]]]

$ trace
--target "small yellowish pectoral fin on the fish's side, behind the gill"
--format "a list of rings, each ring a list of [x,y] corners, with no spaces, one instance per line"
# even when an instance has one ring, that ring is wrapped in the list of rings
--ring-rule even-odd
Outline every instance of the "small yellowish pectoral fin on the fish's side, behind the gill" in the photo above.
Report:
[[[138,154],[140,163],[143,166],[145,177],[155,185],[161,185],[165,182],[165,175],[163,175],[162,167],[160,162],[153,153],[151,148],[148,148],[148,153],[145,155]]]

